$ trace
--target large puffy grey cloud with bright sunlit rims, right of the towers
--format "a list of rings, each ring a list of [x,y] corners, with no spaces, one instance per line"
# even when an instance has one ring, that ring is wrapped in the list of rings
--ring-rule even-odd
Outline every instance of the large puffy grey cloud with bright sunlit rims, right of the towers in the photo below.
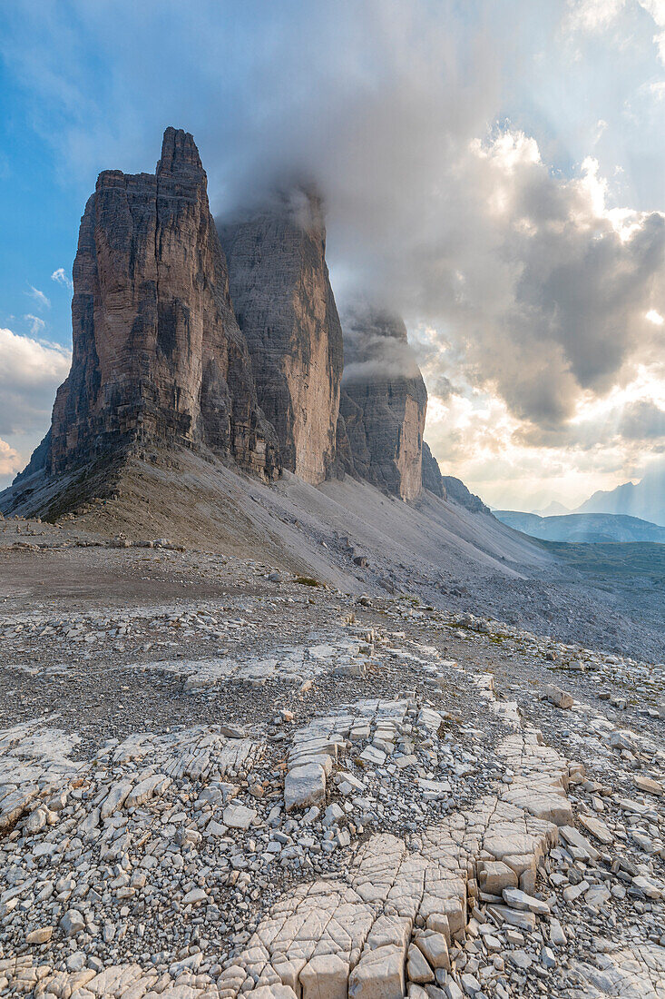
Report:
[[[594,161],[562,179],[511,131],[472,143],[445,180],[445,204],[427,209],[439,228],[407,249],[411,270],[384,263],[391,294],[414,289],[407,312],[455,345],[458,375],[551,428],[657,354],[662,334],[645,313],[665,311],[660,213],[607,208]],[[428,381],[442,363],[425,360]]]

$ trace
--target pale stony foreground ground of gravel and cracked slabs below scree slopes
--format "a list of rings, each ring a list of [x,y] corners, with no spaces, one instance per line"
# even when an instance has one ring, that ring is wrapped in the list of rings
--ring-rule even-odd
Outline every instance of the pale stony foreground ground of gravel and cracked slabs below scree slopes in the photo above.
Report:
[[[665,996],[665,667],[85,551],[0,541],[1,994]]]

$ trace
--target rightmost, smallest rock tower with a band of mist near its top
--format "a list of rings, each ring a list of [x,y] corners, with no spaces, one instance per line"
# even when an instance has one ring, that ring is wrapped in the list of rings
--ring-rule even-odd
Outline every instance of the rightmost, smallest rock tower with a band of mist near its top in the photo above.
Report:
[[[344,321],[340,413],[353,472],[380,489],[414,500],[422,489],[422,432],[427,391],[406,327],[360,308]]]

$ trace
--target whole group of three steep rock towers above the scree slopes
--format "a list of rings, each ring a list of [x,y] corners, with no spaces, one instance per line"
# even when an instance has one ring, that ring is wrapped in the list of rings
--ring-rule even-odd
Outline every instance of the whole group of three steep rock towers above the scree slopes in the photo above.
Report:
[[[342,342],[312,188],[218,228],[194,139],[167,129],[154,174],[99,176],[72,326],[72,368],[22,491],[40,471],[180,446],[269,480],[346,471],[402,500],[423,485],[443,495],[426,448],[422,464],[427,394],[403,322],[356,307]]]

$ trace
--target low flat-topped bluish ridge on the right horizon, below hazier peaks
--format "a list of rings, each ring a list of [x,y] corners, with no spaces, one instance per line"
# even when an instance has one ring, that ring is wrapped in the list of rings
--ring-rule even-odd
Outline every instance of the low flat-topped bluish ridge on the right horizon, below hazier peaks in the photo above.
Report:
[[[622,513],[538,516],[537,513],[497,509],[494,510],[494,516],[508,527],[546,541],[655,541],[665,544],[664,526]]]

